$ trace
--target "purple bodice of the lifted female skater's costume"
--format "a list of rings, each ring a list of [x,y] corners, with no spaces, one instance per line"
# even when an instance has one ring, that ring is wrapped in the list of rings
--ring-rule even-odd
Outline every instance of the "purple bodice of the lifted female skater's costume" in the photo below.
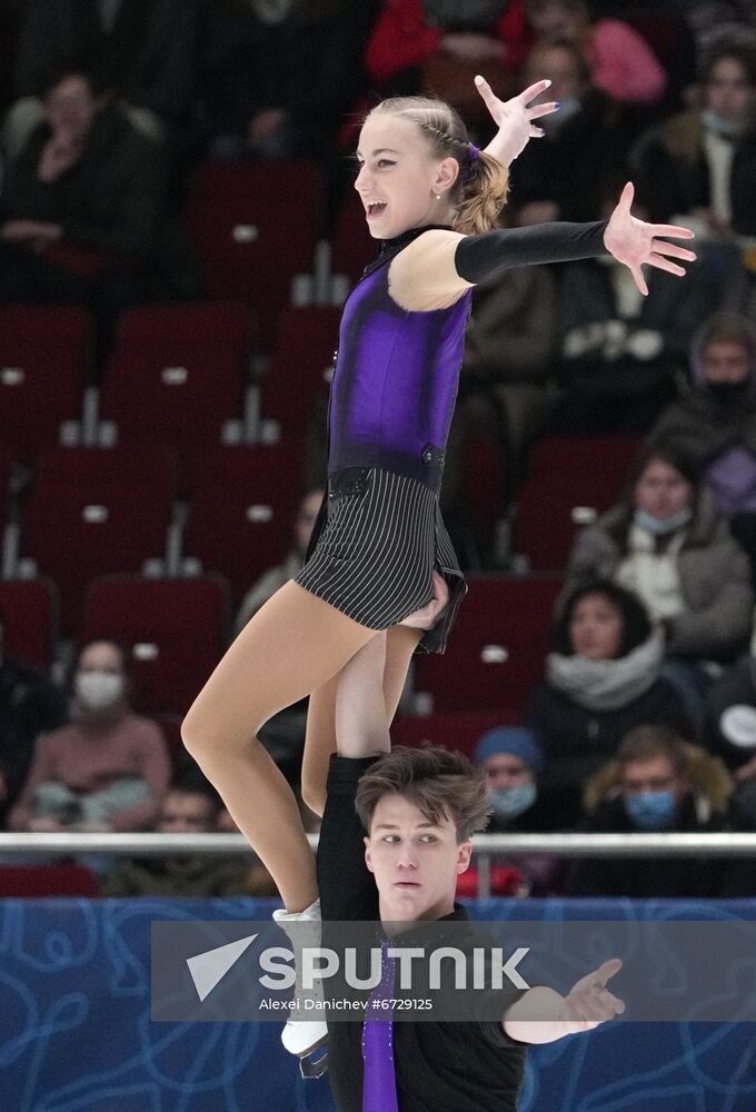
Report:
[[[382,467],[437,489],[471,291],[448,309],[410,312],[389,296],[389,265],[390,258],[358,282],[345,306],[328,474]]]

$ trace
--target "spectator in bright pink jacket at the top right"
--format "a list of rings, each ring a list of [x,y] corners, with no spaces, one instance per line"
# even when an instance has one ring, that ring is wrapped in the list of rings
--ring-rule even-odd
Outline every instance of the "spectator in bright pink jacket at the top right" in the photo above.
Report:
[[[591,19],[586,0],[526,0],[538,38],[570,39],[584,52],[593,82],[618,102],[653,103],[667,78],[648,42],[619,19]]]

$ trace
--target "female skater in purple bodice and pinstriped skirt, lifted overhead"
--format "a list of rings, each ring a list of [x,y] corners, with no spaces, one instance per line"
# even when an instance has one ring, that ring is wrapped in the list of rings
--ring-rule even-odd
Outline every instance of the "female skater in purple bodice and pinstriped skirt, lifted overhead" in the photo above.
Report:
[[[302,572],[240,633],[182,726],[185,745],[270,871],[289,919],[317,915],[315,858],[295,797],[256,735],[271,715],[310,696],[302,794],[322,813],[341,668],[388,631],[388,729],[418,643],[444,651],[466,588],[438,490],[472,286],[511,266],[609,251],[646,294],[644,264],[683,275],[672,259],[695,258],[658,238],[687,239],[687,229],[630,215],[629,183],[607,224],[488,230],[505,200],[507,165],[540,135],[534,120],[557,106],[528,107],[548,81],[506,103],[483,78],[476,83],[499,127],[486,151],[440,101],[387,100],[365,121],[355,187],[382,247],[345,306],[327,514]],[[442,573],[449,600],[424,628],[446,597],[434,572]],[[289,1024],[305,1036],[314,1026]]]

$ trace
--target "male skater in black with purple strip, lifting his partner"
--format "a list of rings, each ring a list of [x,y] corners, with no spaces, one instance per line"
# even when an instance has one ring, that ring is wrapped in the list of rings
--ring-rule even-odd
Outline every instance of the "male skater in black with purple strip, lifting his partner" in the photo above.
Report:
[[[338,748],[318,847],[322,919],[379,920],[402,944],[417,931],[412,924],[454,924],[455,944],[471,944],[455,888],[470,836],[488,820],[485,780],[458,753],[390,751],[385,726],[376,725],[386,721],[384,662],[378,634],[339,679]],[[621,1013],[625,1005],[606,987],[620,967],[616,959],[605,962],[564,997],[546,986],[504,989],[495,1019],[474,1019],[460,1000],[460,1022],[329,1022],[339,1112],[516,1112],[527,1045]],[[389,995],[398,995],[390,984]]]

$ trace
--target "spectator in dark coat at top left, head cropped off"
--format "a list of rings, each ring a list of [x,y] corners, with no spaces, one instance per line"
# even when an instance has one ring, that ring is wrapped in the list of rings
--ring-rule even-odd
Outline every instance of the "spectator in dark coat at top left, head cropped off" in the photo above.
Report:
[[[16,59],[12,141],[39,117],[40,82],[67,59],[92,68],[98,86],[133,109],[150,135],[178,138],[191,119],[202,0],[27,0]]]

